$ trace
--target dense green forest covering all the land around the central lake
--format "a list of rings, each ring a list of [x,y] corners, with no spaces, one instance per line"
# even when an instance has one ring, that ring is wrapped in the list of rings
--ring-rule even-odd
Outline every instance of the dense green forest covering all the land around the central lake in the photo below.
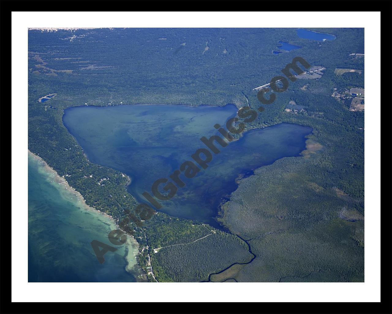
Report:
[[[233,234],[252,239],[257,257],[236,272],[233,268],[228,278],[363,281],[364,111],[349,111],[331,95],[335,88],[364,88],[364,58],[349,56],[364,53],[364,30],[315,30],[336,39],[302,39],[295,29],[282,28],[30,30],[29,150],[64,175],[87,204],[134,235],[147,273],[151,259],[151,281],[206,280],[209,273],[246,260],[247,245]],[[274,55],[279,40],[301,49]],[[290,81],[247,130],[279,122],[311,126],[308,149],[241,181],[219,218],[232,234],[161,212],[142,222],[134,211],[137,202],[125,190],[129,178],[91,163],[62,123],[71,106],[232,103],[240,108],[248,100],[257,110],[253,89],[281,75],[297,56],[325,67],[323,76]],[[336,68],[361,74],[337,75]],[[38,102],[50,93],[57,95]],[[285,111],[290,100],[298,112]],[[103,178],[105,185],[98,184]],[[216,233],[195,243],[153,251],[190,243],[211,230]]]

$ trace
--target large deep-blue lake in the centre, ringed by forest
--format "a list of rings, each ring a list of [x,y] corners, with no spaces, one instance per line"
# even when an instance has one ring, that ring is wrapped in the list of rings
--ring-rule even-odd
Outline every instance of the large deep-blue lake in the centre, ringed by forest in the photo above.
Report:
[[[206,147],[200,138],[220,135],[214,125],[225,126],[236,113],[231,104],[82,106],[65,110],[63,122],[91,162],[129,175],[128,192],[148,203],[142,193],[151,194],[156,179],[169,178],[184,161],[193,161],[191,155]],[[216,144],[221,152],[212,154],[209,167],[192,179],[181,174],[185,187],[178,188],[172,199],[160,201],[160,211],[220,228],[214,217],[222,198],[236,189],[238,175],[282,157],[298,156],[311,131],[307,126],[280,123],[245,132],[225,148]]]

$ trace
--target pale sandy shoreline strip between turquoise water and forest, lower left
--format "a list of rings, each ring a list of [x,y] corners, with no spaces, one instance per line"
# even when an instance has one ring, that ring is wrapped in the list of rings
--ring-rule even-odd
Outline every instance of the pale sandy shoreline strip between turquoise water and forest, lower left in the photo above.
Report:
[[[114,220],[114,218],[112,216],[87,205],[82,194],[80,194],[72,186],[70,186],[68,181],[64,177],[61,177],[60,175],[58,175],[58,173],[53,168],[51,168],[46,163],[46,161],[44,159],[42,159],[40,156],[32,153],[30,150],[27,150],[27,151],[28,151],[29,156],[31,156],[34,160],[39,161],[42,164],[42,167],[44,168],[45,172],[52,173],[54,175],[52,182],[56,182],[58,184],[64,185],[66,190],[68,190],[69,192],[71,192],[72,194],[75,195],[76,199],[80,203],[80,208],[82,208],[83,210],[87,210],[88,212],[95,212],[96,214],[99,213],[100,215],[109,219],[110,223],[113,224],[113,226],[116,229],[121,230],[120,226],[117,225],[117,222]],[[132,256],[132,253],[135,253],[135,252],[136,252],[136,254],[133,254],[133,256]],[[127,272],[130,272],[131,274],[133,274],[137,280],[141,279],[141,278],[139,278],[139,276],[142,275],[140,273],[135,274],[134,273],[135,270],[133,269],[135,265],[137,265],[137,267],[140,268],[138,261],[137,261],[138,253],[139,253],[139,243],[136,241],[136,239],[132,235],[127,234],[127,242],[125,243],[125,255],[124,255],[124,258],[127,262],[127,265],[125,266],[125,270]],[[136,261],[136,263],[131,265],[131,261],[133,259]]]

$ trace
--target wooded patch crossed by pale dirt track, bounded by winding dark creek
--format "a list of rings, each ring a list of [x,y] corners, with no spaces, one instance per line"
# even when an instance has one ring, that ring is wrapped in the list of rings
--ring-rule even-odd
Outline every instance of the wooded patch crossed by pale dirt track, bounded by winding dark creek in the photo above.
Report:
[[[208,280],[209,274],[249,259],[248,246],[235,235],[178,218],[162,222],[151,221],[147,232],[152,235],[148,242],[158,281]],[[160,247],[155,253],[153,249]]]

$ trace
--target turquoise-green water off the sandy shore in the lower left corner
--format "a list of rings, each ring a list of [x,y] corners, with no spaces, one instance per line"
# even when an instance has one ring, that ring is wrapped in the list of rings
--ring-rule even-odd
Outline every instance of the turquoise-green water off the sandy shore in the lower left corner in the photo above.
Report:
[[[110,245],[114,223],[87,210],[64,184],[52,182],[54,175],[40,161],[29,155],[28,162],[29,282],[136,281],[136,270],[135,275],[125,270],[125,245],[105,254],[103,264],[94,255],[91,241]]]

